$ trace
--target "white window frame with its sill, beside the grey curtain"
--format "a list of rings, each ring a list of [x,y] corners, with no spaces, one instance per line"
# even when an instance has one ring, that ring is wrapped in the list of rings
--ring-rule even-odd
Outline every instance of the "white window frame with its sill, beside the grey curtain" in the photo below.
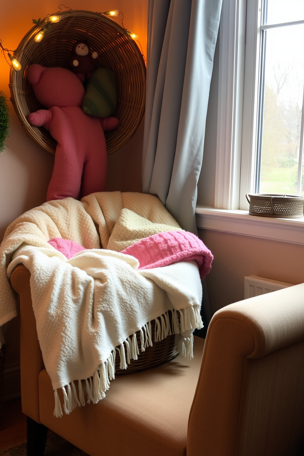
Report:
[[[250,18],[247,30],[246,16]],[[253,189],[255,165],[260,24],[260,1],[223,0],[215,202],[214,208],[196,207],[197,226],[304,245],[304,218],[248,215],[246,193]]]

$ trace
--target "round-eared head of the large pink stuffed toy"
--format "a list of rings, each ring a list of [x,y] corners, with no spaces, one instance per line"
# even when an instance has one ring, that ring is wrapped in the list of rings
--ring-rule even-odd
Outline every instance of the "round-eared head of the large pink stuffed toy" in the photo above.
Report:
[[[80,80],[71,71],[34,64],[28,68],[27,77],[33,86],[37,100],[46,108],[82,105],[85,90]]]

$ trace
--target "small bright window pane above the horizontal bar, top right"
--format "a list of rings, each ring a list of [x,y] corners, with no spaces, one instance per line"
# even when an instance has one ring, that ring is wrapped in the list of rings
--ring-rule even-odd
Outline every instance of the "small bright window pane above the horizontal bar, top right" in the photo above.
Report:
[[[268,0],[267,24],[304,19],[304,0]]]

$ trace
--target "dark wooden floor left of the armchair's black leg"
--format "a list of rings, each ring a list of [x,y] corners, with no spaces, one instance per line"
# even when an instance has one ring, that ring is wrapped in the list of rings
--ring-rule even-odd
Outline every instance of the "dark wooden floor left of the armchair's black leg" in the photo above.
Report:
[[[26,442],[26,416],[21,411],[21,399],[2,404],[0,411],[0,451]]]

